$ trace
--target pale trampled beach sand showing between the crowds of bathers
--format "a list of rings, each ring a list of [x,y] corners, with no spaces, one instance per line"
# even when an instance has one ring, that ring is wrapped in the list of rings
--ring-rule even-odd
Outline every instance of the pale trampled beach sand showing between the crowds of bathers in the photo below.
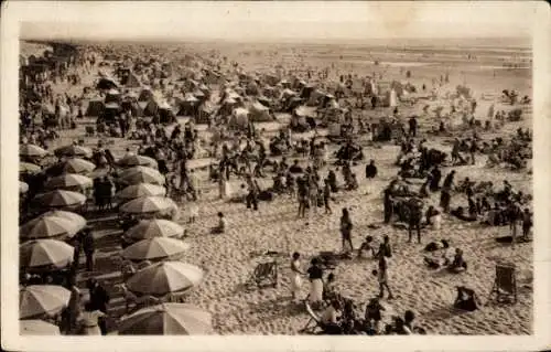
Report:
[[[22,47],[35,44],[22,43]],[[283,66],[298,66],[307,63],[309,66],[322,70],[334,65],[332,79],[338,79],[338,75],[345,72],[354,72],[363,75],[383,74],[385,81],[406,81],[404,71],[411,71],[408,78],[411,84],[431,86],[431,79],[449,73],[450,82],[439,86],[439,96],[445,92],[454,92],[457,85],[466,85],[473,96],[478,99],[477,115],[484,116],[490,104],[495,104],[496,110],[509,110],[510,106],[499,103],[503,89],[514,88],[519,96],[531,94],[531,71],[525,68],[505,70],[500,56],[522,55],[528,57],[525,51],[510,50],[499,52],[494,50],[478,51],[479,58],[476,63],[465,62],[457,53],[442,53],[435,49],[424,49],[419,54],[409,55],[392,50],[378,54],[377,49],[354,50],[338,45],[333,46],[309,46],[300,47],[296,44],[280,44],[277,53],[273,47],[257,47],[245,50],[241,46],[227,47],[229,44],[220,45],[220,54],[227,55],[228,60],[235,60],[250,72],[270,72],[278,64]],[[276,46],[276,45],[273,45]],[[213,46],[209,46],[213,49]],[[216,49],[216,47],[215,47]],[[32,49],[24,49],[32,52]],[[247,54],[245,54],[247,52]],[[426,54],[429,57],[424,57]],[[179,55],[177,52],[174,53]],[[406,55],[406,56],[404,56]],[[447,55],[447,56],[446,56]],[[335,60],[334,57],[342,57]],[[480,57],[484,56],[484,57]],[[302,57],[302,58],[298,58]],[[380,64],[369,63],[369,57],[377,57]],[[463,62],[462,62],[463,61]],[[529,62],[522,64],[529,65]],[[97,79],[97,70],[82,75],[82,84],[68,86],[66,83],[54,85],[54,92],[69,95],[79,95],[84,86],[93,85]],[[214,90],[215,92],[215,90]],[[484,100],[482,95],[495,98]],[[432,110],[442,100],[428,102]],[[424,103],[411,107],[400,107],[403,116],[409,114],[421,114]],[[387,110],[364,110],[358,114],[367,119],[386,114]],[[54,140],[51,150],[60,146],[71,143],[73,140],[85,135],[85,127],[95,125],[95,119],[85,117],[77,120],[74,130],[60,131],[60,139]],[[262,126],[259,124],[259,126]],[[420,130],[425,132],[431,126],[436,126],[433,116],[420,118]],[[496,136],[508,136],[517,128],[531,128],[532,117],[529,107],[526,108],[523,119],[518,122],[506,122],[496,132]],[[173,126],[166,127],[168,129]],[[203,129],[202,126],[198,128]],[[201,132],[206,134],[206,132]],[[491,134],[483,135],[485,139],[493,138]],[[136,150],[139,141],[122,138],[108,138],[114,143],[109,146],[116,158],[125,154],[126,148]],[[450,152],[452,146],[451,137],[428,137],[428,145]],[[86,146],[94,148],[98,142],[97,137],[86,138]],[[337,146],[331,146],[335,151]],[[290,291],[290,255],[293,252],[302,254],[303,269],[307,268],[311,257],[323,250],[339,250],[339,214],[342,207],[350,211],[354,221],[352,234],[353,243],[357,247],[367,235],[375,238],[376,246],[382,241],[383,235],[390,237],[395,255],[389,264],[389,285],[395,292],[393,300],[382,300],[385,307],[396,314],[403,314],[408,309],[413,309],[417,322],[422,326],[429,334],[530,334],[532,332],[532,244],[519,244],[511,248],[509,244],[499,244],[496,236],[507,235],[508,226],[495,227],[476,223],[465,223],[447,214],[443,215],[440,231],[423,230],[423,244],[410,244],[407,242],[407,230],[399,230],[382,224],[382,190],[389,181],[396,177],[399,168],[395,166],[399,153],[399,147],[390,143],[381,146],[364,147],[365,160],[353,167],[358,175],[359,188],[354,191],[339,192],[335,194],[333,214],[323,214],[323,209],[317,214],[311,213],[306,220],[298,218],[296,200],[288,195],[278,195],[272,202],[261,202],[259,211],[248,210],[244,203],[230,203],[218,199],[218,189],[215,183],[208,182],[207,171],[199,171],[202,178],[201,196],[196,202],[199,212],[196,222],[187,222],[187,203],[180,203],[179,224],[183,225],[187,233],[186,242],[191,245],[184,257],[186,263],[194,264],[205,269],[204,282],[198,286],[188,297],[188,301],[210,311],[214,316],[214,328],[220,334],[296,334],[304,327],[309,316],[303,307],[292,302]],[[288,158],[289,160],[294,157]],[[299,158],[301,159],[301,158]],[[379,174],[375,180],[365,178],[365,161],[375,160]],[[301,159],[301,164],[306,162]],[[331,159],[329,166],[332,166]],[[488,169],[485,167],[486,156],[477,157],[474,166],[457,167],[456,180],[465,177],[473,181],[491,181],[496,185],[507,179],[516,190],[525,194],[532,194],[531,174],[522,171],[510,171],[505,168]],[[531,160],[528,161],[527,170],[531,169]],[[321,170],[326,174],[328,168]],[[443,168],[446,174],[450,168]],[[339,182],[343,180],[337,172]],[[421,186],[422,180],[412,180],[414,188]],[[231,180],[231,186],[238,189],[244,183],[241,180]],[[269,179],[260,179],[261,185],[268,186]],[[466,206],[464,195],[454,196],[452,207]],[[432,194],[428,204],[439,204],[436,194]],[[223,212],[227,221],[227,231],[223,235],[213,235],[209,228],[216,225],[217,213]],[[116,257],[120,252],[119,237],[122,233],[117,228],[115,218],[88,220],[93,226],[97,247],[96,278],[99,281],[109,282],[111,302],[109,314],[115,317],[122,314],[123,298],[114,287],[121,282],[120,268]],[[375,226],[369,226],[375,225]],[[372,228],[378,227],[378,228]],[[423,265],[424,244],[446,238],[452,247],[461,247],[465,258],[468,258],[468,270],[464,274],[451,275],[445,271],[431,271]],[[279,287],[262,289],[246,289],[245,281],[251,275],[255,265],[264,259],[262,253],[278,252],[277,256],[280,269]],[[84,256],[80,257],[84,263]],[[491,285],[495,278],[495,266],[500,262],[512,262],[517,266],[518,276],[518,302],[516,305],[497,305],[487,302]],[[337,287],[342,295],[354,299],[361,305],[378,294],[377,277],[371,270],[377,268],[375,259],[343,260],[333,271],[337,278]],[[86,276],[80,278],[84,287]],[[307,282],[304,280],[302,297],[307,295]],[[480,309],[474,312],[458,313],[453,310],[452,303],[455,298],[455,287],[458,285],[474,289],[483,301]]]

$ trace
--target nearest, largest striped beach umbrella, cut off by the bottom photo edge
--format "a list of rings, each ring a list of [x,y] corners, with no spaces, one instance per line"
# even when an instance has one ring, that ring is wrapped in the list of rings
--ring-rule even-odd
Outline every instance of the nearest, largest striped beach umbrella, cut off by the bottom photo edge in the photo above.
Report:
[[[119,334],[208,334],[210,312],[186,303],[162,303],[142,308],[119,322]]]

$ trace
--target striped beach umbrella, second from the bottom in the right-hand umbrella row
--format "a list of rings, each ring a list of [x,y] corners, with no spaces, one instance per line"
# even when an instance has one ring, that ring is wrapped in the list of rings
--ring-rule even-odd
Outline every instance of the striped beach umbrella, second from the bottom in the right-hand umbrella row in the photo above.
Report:
[[[203,277],[203,270],[194,265],[176,260],[162,262],[132,275],[127,287],[137,294],[163,296],[191,289],[201,284]]]

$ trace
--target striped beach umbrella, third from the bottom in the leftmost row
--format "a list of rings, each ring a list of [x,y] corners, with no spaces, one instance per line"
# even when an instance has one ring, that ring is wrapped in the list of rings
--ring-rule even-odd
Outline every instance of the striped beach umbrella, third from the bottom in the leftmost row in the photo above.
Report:
[[[75,248],[56,239],[35,239],[19,246],[19,266],[35,268],[54,266],[64,268],[73,262]]]

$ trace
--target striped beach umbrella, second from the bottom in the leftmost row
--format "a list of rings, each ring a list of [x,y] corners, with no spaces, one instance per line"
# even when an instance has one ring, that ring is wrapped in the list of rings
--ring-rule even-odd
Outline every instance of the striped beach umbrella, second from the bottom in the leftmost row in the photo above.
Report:
[[[65,308],[71,291],[56,285],[31,285],[19,292],[19,318],[55,314]]]

